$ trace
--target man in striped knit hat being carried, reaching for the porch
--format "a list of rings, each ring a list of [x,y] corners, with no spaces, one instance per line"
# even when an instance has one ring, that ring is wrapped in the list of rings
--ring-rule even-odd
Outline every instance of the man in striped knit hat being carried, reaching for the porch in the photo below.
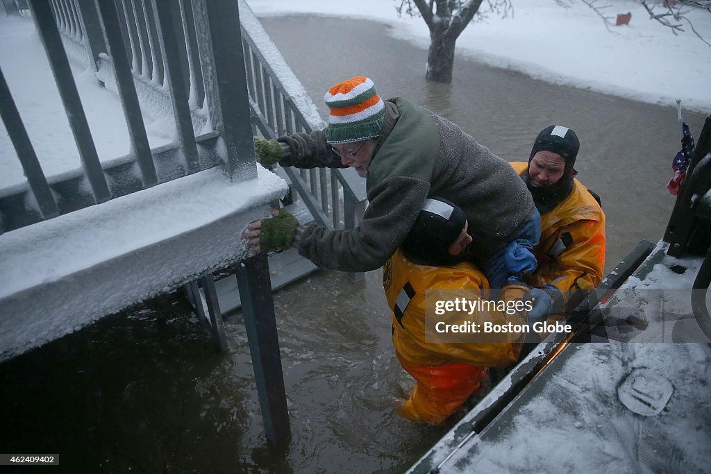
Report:
[[[350,166],[367,178],[370,204],[360,225],[328,230],[311,224],[296,243],[299,254],[328,269],[377,269],[405,239],[427,196],[436,194],[464,210],[476,242],[470,258],[501,287],[510,271],[503,262],[508,244],[516,242],[516,250],[525,252],[540,235],[540,215],[508,163],[427,109],[400,98],[383,101],[367,77],[334,85],[325,101],[325,130],[255,139],[264,165]],[[294,244],[296,220],[284,212],[275,217],[245,232],[255,252]]]

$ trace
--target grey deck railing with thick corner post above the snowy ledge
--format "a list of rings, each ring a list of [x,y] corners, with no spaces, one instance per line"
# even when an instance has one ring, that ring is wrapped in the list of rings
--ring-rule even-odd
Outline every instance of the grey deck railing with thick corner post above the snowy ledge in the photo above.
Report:
[[[215,166],[223,166],[232,181],[255,178],[257,165],[235,4],[204,0],[31,0],[30,6],[82,166],[61,176],[45,176],[11,91],[0,75],[0,112],[27,177],[26,183],[0,190],[2,232]],[[135,18],[142,18],[141,22]],[[186,43],[185,38],[193,39]],[[130,137],[131,152],[127,156],[105,157],[108,159],[102,161],[97,156],[68,62],[68,50],[71,53],[79,43],[95,61],[97,75],[121,99]],[[198,70],[208,73],[201,75]],[[137,75],[144,80],[134,80]],[[156,149],[149,146],[141,106],[150,101],[146,101],[148,94],[141,91],[141,84],[159,92],[154,97],[163,96],[168,101],[172,114],[164,115],[166,119],[173,117],[176,131],[171,144]],[[203,95],[203,90],[210,93]],[[193,112],[199,102],[201,110],[210,111],[210,119],[196,129]]]

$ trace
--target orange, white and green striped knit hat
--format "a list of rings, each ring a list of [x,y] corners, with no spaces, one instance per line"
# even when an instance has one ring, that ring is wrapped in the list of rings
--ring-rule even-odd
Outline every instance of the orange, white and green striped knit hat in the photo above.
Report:
[[[368,77],[358,76],[331,87],[324,96],[331,109],[326,127],[328,143],[375,138],[385,124],[385,104]]]

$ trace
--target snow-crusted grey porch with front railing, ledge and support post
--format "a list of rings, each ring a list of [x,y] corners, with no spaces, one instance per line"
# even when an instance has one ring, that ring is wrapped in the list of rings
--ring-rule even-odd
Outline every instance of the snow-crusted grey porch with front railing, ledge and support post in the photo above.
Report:
[[[235,238],[287,192],[282,178],[255,161],[237,4],[29,5],[82,166],[45,176],[0,70],[0,114],[27,178],[0,189],[0,231],[6,232],[0,274],[11,282],[0,285],[0,360],[184,285],[196,305],[205,302],[210,329],[225,349],[213,274],[230,271],[239,281],[267,441],[288,441],[267,255],[250,257]],[[67,50],[77,45],[118,94],[129,132],[127,156],[98,157],[68,60]],[[196,51],[197,62],[191,59]],[[154,97],[169,99],[175,135],[165,146],[149,146],[141,107],[150,97],[139,90],[141,83],[157,92]],[[209,130],[195,128],[191,108],[198,104],[210,111]],[[218,166],[223,172],[211,169]]]

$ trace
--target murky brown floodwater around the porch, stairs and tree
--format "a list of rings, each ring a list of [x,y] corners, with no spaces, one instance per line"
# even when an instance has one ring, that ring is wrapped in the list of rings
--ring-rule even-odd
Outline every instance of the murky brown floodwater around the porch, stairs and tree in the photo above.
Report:
[[[326,89],[365,74],[381,95],[433,109],[508,159],[527,158],[548,124],[571,126],[582,141],[579,177],[608,217],[607,268],[639,239],[661,237],[679,146],[671,105],[461,57],[454,82],[433,85],[426,50],[393,40],[380,23],[294,16],[264,26],[324,116]],[[702,115],[685,117],[697,134]],[[140,306],[0,365],[0,451],[58,453],[65,472],[392,473],[447,431],[392,411],[400,367],[377,271],[362,283],[320,271],[274,295],[292,429],[280,449],[264,438],[240,313],[227,319],[230,349],[219,354],[186,303],[172,299],[161,320]]]

